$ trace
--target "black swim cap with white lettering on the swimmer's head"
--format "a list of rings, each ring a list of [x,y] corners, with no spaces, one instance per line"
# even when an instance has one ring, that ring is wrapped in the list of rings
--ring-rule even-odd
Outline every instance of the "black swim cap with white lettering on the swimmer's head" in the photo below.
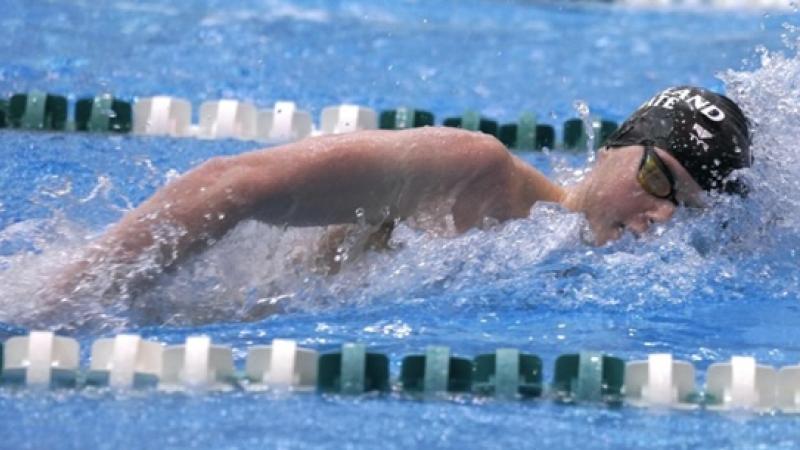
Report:
[[[747,118],[731,99],[702,88],[669,88],[642,105],[604,145],[652,144],[669,152],[706,191],[744,194],[736,169],[750,167]]]

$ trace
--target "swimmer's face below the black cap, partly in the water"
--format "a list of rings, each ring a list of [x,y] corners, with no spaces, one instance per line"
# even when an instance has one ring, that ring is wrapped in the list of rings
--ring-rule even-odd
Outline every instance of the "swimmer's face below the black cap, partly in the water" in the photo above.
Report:
[[[670,199],[648,193],[637,180],[644,148],[631,146],[601,151],[587,180],[584,212],[598,245],[619,239],[625,231],[646,233],[655,223],[668,221],[677,207]],[[675,199],[702,206],[701,188],[669,153],[656,149],[675,179]]]

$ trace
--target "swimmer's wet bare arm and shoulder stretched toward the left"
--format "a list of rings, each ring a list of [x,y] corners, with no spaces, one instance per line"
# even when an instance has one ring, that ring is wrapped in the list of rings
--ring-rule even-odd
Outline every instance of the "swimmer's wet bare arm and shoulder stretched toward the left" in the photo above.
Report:
[[[245,219],[328,225],[355,222],[362,210],[363,220],[379,223],[446,199],[464,231],[487,216],[526,216],[552,187],[541,174],[541,189],[522,186],[526,170],[535,172],[496,139],[455,129],[306,139],[209,160],[126,214],[93,247],[115,261],[156,249],[166,267]]]

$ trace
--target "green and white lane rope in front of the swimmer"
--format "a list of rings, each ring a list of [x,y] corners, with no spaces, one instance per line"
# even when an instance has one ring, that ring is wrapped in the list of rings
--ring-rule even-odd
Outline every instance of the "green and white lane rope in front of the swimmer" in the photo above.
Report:
[[[209,392],[283,390],[344,395],[403,392],[411,396],[450,394],[491,396],[498,400],[547,397],[559,403],[674,408],[756,413],[800,413],[800,365],[780,371],[750,356],[708,367],[706,385],[695,386],[695,369],[667,353],[625,362],[599,352],[559,356],[553,381],[543,382],[542,360],[518,349],[500,348],[474,359],[450,348],[429,346],[405,356],[394,384],[389,358],[360,343],[320,354],[289,339],[248,348],[243,373],[233,350],[208,336],[189,336],[182,345],[164,346],[135,334],[96,340],[89,368],[80,368],[73,338],[32,331],[0,345],[0,382],[17,388],[82,386]]]

